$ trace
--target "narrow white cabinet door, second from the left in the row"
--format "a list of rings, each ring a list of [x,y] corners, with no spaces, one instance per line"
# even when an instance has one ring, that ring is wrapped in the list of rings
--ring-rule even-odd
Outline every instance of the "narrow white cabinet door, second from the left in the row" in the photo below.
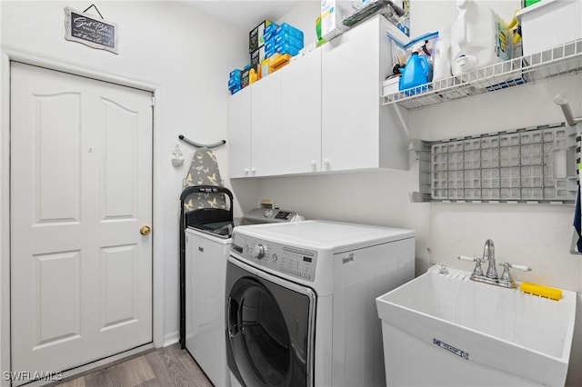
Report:
[[[252,84],[251,89],[251,174],[280,174],[281,73],[269,74]]]

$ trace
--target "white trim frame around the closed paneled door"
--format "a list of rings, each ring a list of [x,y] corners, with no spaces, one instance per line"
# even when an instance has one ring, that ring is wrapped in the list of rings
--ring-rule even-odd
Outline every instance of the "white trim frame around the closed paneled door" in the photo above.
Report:
[[[152,323],[153,343],[156,348],[164,345],[164,256],[163,213],[164,195],[161,189],[161,131],[160,102],[161,84],[130,78],[103,69],[64,61],[45,55],[17,50],[0,45],[0,370],[12,371],[10,358],[10,69],[11,62],[36,65],[50,70],[80,75],[112,84],[134,87],[151,92],[154,96],[153,110],[153,171],[152,171]],[[0,386],[10,386],[0,374]]]

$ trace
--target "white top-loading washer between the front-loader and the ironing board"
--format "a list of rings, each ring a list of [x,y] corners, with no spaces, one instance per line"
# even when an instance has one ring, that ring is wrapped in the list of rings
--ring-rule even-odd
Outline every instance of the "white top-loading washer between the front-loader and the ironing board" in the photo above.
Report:
[[[303,221],[292,211],[256,208],[236,224]],[[218,387],[228,387],[226,365],[225,280],[233,224],[197,223],[185,231],[185,348]]]

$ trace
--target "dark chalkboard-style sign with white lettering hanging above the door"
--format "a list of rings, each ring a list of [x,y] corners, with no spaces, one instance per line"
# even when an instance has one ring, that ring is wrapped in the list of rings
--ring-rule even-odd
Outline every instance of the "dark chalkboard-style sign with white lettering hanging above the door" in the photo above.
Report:
[[[65,39],[118,54],[117,25],[65,7]]]

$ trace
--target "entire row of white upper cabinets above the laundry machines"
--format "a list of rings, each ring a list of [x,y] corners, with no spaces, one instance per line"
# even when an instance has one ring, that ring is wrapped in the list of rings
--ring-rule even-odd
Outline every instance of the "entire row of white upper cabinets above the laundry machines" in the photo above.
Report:
[[[408,168],[408,140],[380,105],[392,68],[375,16],[230,98],[230,176]]]

